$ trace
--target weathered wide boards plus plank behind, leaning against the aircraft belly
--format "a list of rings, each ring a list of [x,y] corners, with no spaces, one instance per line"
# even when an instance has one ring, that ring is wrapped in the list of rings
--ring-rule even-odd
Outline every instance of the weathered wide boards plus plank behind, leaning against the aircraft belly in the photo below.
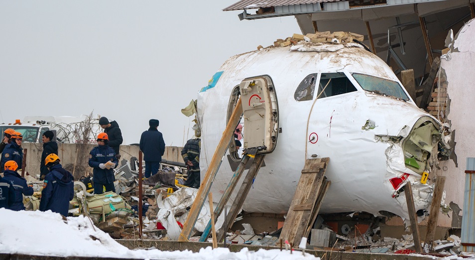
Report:
[[[330,181],[325,179],[329,160],[326,157],[305,161],[279,240],[299,245],[302,237],[308,237],[330,187]]]

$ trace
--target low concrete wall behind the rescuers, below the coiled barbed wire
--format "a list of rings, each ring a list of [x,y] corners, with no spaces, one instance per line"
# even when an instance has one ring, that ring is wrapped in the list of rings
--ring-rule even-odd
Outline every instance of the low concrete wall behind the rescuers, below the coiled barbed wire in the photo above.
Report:
[[[43,152],[43,144],[25,142],[21,145],[27,149],[26,153],[26,171],[36,177],[39,175],[41,153]],[[59,143],[58,156],[61,159],[61,164],[67,168],[73,175],[82,176],[92,172],[92,168],[88,166],[89,152],[96,145],[94,144],[76,144],[76,143]],[[182,147],[167,146],[165,147],[165,154],[162,159],[169,161],[183,162],[181,157]],[[122,159],[130,160],[130,157],[138,158],[137,145],[120,145],[120,154]]]

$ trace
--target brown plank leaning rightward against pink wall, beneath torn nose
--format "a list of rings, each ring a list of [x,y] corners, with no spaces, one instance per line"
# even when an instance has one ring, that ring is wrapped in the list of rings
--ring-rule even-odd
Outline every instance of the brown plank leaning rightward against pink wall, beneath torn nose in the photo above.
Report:
[[[437,220],[439,219],[440,203],[442,195],[444,194],[445,176],[437,176],[434,187],[434,195],[432,196],[431,211],[429,219],[427,220],[427,233],[424,240],[424,248],[429,246],[430,252],[433,251],[432,242],[434,241],[435,232],[437,228]]]

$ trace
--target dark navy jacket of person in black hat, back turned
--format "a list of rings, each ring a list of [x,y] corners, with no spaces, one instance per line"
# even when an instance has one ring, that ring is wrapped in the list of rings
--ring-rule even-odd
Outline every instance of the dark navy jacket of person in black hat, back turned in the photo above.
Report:
[[[162,161],[165,153],[165,141],[163,135],[155,128],[149,128],[140,136],[140,150],[143,152],[144,161]]]

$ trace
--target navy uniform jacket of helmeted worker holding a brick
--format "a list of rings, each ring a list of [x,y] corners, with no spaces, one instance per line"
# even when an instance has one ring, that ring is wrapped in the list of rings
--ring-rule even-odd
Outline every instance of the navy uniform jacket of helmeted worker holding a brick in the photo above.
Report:
[[[119,161],[116,158],[116,152],[114,149],[108,145],[98,145],[94,147],[89,153],[89,166],[93,167],[94,173],[94,182],[97,183],[113,183],[116,180],[114,176],[114,170],[111,169],[101,169],[99,164],[112,161],[116,164],[116,167]]]

